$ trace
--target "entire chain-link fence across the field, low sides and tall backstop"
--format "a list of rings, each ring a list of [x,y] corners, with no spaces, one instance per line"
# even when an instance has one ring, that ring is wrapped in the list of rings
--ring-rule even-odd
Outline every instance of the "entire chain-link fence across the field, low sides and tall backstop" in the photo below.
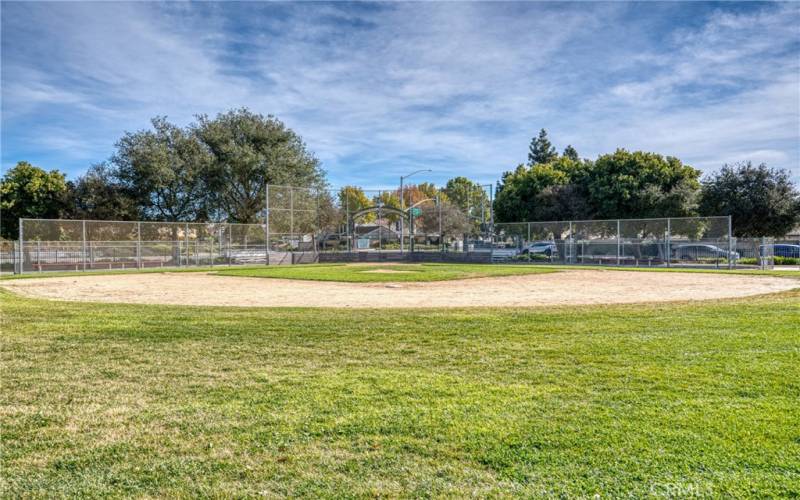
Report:
[[[495,224],[492,186],[463,186],[270,185],[260,224],[22,219],[20,241],[2,242],[0,263],[3,271],[80,271],[307,263],[320,253],[471,252],[513,263],[800,265],[800,242],[735,238],[730,217]]]

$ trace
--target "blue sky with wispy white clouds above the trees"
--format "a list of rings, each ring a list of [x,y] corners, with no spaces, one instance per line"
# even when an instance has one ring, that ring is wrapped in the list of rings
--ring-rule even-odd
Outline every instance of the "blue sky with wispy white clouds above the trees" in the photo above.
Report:
[[[124,131],[246,106],[334,185],[494,182],[542,127],[800,180],[800,4],[2,3],[2,167],[70,177]]]

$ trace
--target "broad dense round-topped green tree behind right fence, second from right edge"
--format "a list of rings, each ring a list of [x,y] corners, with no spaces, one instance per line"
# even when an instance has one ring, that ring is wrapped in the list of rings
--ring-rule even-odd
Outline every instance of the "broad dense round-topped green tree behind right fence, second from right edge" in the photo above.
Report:
[[[588,169],[588,202],[595,219],[696,215],[699,177],[677,158],[618,149]]]

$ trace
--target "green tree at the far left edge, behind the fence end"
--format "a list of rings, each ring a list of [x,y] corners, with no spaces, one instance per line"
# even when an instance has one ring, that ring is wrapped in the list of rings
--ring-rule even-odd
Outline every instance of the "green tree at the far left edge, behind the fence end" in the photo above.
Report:
[[[20,218],[56,219],[68,206],[67,179],[58,170],[46,172],[26,161],[18,162],[0,181],[0,235],[19,237]]]

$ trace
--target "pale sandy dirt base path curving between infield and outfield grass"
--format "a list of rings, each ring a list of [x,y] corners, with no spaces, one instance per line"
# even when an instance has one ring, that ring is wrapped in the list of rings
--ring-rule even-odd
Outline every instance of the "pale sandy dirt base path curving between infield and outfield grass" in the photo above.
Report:
[[[800,281],[711,273],[575,270],[427,283],[338,283],[205,273],[125,274],[2,283],[48,299],[268,307],[474,307],[624,304],[745,297]]]

